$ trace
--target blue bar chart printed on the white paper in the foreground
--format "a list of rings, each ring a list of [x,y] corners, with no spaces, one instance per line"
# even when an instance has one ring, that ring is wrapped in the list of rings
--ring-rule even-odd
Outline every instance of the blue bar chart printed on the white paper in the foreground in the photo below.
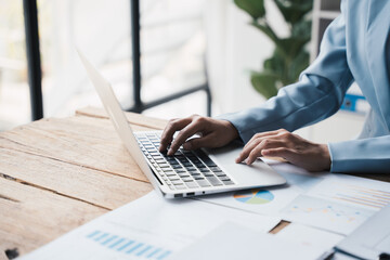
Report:
[[[86,238],[105,249],[122,253],[123,258],[128,257],[129,259],[162,260],[171,255],[169,249],[98,230],[89,233]]]

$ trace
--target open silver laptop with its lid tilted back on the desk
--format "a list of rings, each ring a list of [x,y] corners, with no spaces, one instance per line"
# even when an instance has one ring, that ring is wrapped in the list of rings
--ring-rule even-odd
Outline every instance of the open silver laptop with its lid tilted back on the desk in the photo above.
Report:
[[[81,52],[78,54],[122,143],[164,197],[190,197],[286,183],[261,159],[251,166],[235,164],[234,159],[243,148],[237,143],[216,150],[180,148],[173,156],[159,153],[162,132],[133,132],[110,84]]]

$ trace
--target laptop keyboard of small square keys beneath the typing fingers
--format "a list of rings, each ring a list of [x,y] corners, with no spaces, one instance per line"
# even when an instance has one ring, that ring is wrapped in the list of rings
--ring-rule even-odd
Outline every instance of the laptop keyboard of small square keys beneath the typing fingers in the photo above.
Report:
[[[158,133],[136,133],[139,145],[171,190],[233,185],[234,182],[202,150],[180,148],[173,156],[158,151]]]

